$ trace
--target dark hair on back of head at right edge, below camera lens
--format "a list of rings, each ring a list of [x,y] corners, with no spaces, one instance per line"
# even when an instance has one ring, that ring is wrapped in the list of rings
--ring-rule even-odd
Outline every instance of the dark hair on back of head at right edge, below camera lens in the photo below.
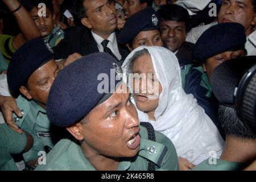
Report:
[[[221,126],[224,128],[226,135],[230,135],[240,140],[256,139],[256,135],[247,129],[238,118],[234,108],[220,105],[218,108],[218,114]]]

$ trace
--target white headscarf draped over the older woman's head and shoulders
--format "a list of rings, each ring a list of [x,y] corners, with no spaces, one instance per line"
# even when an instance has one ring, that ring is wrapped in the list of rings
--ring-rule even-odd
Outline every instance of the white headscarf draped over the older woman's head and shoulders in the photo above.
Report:
[[[216,126],[205,114],[204,109],[197,104],[193,95],[184,92],[179,62],[170,50],[163,47],[146,46],[134,49],[122,65],[123,81],[127,83],[131,57],[135,52],[142,49],[147,49],[150,53],[156,77],[162,85],[162,92],[159,96],[159,105],[155,110],[156,121],[150,121],[146,113],[137,109],[139,121],[150,122],[156,131],[165,134],[172,140],[178,156],[191,159],[190,161],[194,164],[199,163],[195,162],[196,159],[200,162],[203,160],[200,155],[208,151],[204,151],[205,147],[213,145],[210,146],[211,150],[220,151],[223,140]],[[207,139],[200,139],[202,136],[207,137]],[[195,147],[199,150],[199,154],[195,155],[197,152]],[[207,159],[209,155],[206,154],[203,158]]]

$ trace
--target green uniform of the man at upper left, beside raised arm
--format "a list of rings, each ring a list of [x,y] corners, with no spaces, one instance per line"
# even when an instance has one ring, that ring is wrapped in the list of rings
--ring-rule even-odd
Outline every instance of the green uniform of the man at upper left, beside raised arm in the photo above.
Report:
[[[50,44],[51,47],[57,46],[60,40],[64,38],[64,31],[60,27],[56,27],[52,30],[46,38],[46,42]]]

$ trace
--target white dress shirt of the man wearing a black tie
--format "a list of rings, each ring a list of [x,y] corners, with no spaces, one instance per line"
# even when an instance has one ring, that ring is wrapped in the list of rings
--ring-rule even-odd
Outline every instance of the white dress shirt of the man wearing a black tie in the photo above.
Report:
[[[94,38],[94,40],[96,41],[97,43],[97,46],[98,46],[98,50],[100,52],[104,52],[104,48],[103,46],[101,45],[101,42],[103,40],[105,40],[104,38],[102,38],[101,36],[95,34],[93,31],[92,31],[92,36]],[[115,57],[117,57],[118,60],[121,60],[122,59],[122,56],[121,54],[119,53],[119,50],[118,50],[118,46],[117,46],[117,38],[115,36],[115,32],[113,32],[112,34],[110,34],[109,38],[109,43],[107,45],[108,48],[110,48],[110,50],[113,52],[113,54],[115,55]]]

